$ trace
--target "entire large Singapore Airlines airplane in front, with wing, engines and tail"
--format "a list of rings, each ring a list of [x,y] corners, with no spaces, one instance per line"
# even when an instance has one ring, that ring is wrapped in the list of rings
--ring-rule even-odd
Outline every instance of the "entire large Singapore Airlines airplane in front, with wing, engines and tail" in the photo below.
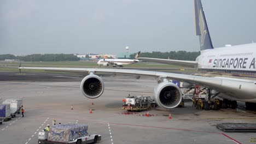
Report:
[[[195,0],[195,21],[201,49],[201,55],[196,58],[196,61],[156,60],[196,66],[199,71],[205,72],[204,76],[129,69],[40,67],[19,67],[19,69],[88,71],[89,75],[82,80],[80,89],[85,97],[92,99],[100,97],[104,91],[103,80],[95,74],[110,73],[147,75],[158,78],[158,84],[154,88],[154,99],[159,106],[166,109],[176,107],[182,100],[181,89],[168,80],[178,80],[214,89],[219,92],[218,97],[233,101],[245,101],[248,107],[256,107],[256,44],[213,49],[200,0]],[[148,59],[143,60],[148,61]],[[223,75],[212,77],[212,74]]]

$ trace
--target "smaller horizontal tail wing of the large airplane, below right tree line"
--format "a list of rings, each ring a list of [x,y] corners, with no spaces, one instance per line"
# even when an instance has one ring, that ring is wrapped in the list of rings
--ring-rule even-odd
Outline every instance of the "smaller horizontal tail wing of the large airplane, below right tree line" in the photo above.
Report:
[[[182,67],[190,67],[190,68],[197,67],[196,61],[181,61],[181,60],[174,60],[174,59],[148,58],[148,57],[138,57],[138,59],[146,62],[173,64],[173,65],[179,65]]]

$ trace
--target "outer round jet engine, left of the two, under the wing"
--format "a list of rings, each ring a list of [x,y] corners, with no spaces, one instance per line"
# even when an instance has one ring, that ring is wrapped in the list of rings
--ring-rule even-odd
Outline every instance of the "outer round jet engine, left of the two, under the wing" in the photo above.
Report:
[[[80,84],[80,89],[85,97],[95,99],[101,96],[104,91],[104,82],[100,76],[85,76]]]

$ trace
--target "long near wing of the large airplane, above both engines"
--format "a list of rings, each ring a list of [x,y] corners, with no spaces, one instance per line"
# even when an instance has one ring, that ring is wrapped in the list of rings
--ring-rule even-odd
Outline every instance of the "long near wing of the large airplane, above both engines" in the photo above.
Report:
[[[131,69],[98,69],[98,68],[44,68],[44,67],[19,67],[19,69],[42,69],[57,71],[88,71],[89,74],[110,73],[126,75],[146,75],[153,77],[164,77],[166,79],[188,82],[195,85],[214,89],[220,93],[229,95],[234,100],[254,97],[256,93],[256,82],[222,79],[221,77],[205,77],[187,74],[166,73],[160,71],[131,70]]]

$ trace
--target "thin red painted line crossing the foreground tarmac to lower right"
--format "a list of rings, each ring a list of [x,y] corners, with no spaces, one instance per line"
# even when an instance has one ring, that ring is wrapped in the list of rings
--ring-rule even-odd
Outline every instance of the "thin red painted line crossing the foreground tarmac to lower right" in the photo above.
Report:
[[[43,116],[36,116],[36,115],[30,115],[31,117],[43,117]],[[59,118],[59,119],[66,119],[66,120],[74,120],[74,119],[71,119],[71,118]],[[79,121],[82,121],[82,122],[92,122],[92,123],[107,123],[107,122],[104,122],[104,121],[90,121],[90,120],[87,120],[87,119],[78,119]],[[109,124],[109,123],[107,123]],[[144,128],[156,128],[156,129],[170,129],[170,130],[182,130],[182,131],[191,131],[191,132],[197,132],[197,133],[210,133],[210,134],[220,134],[220,135],[223,135],[225,137],[228,137],[230,140],[234,140],[235,142],[237,143],[241,143],[241,142],[238,142],[236,141],[235,139],[233,139],[232,137],[224,134],[224,133],[218,133],[218,132],[212,132],[212,131],[203,131],[203,130],[191,130],[191,129],[177,129],[177,128],[168,128],[168,127],[155,127],[155,126],[149,126],[149,125],[138,125],[138,124],[129,124],[129,123],[112,123],[110,122],[110,124],[117,124],[117,125],[128,125],[128,126],[133,126],[133,127],[144,127]],[[110,132],[110,129],[109,129],[109,132]]]

